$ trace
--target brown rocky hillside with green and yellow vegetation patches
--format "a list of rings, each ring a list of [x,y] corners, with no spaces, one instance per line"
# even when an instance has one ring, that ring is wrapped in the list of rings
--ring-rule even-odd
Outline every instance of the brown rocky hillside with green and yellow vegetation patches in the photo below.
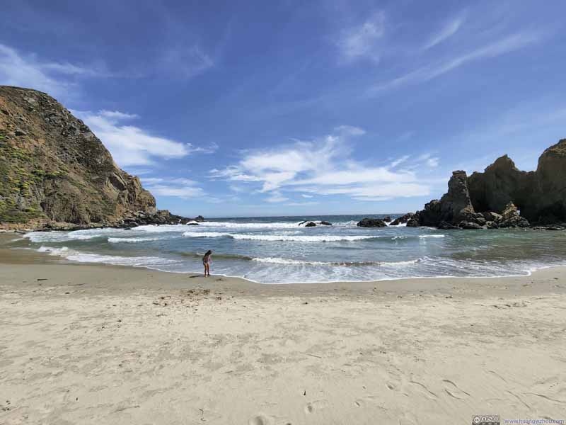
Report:
[[[0,86],[0,222],[180,222],[54,98]]]

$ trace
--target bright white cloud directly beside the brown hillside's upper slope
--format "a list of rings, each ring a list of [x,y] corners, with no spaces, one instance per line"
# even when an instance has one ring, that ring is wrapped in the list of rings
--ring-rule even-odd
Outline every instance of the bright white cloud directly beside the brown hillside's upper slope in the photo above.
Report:
[[[137,115],[120,111],[71,111],[88,125],[94,134],[110,150],[120,166],[154,164],[156,159],[183,158],[200,152],[214,152],[212,147],[195,147],[167,137],[152,135],[151,132],[124,122],[139,118]]]

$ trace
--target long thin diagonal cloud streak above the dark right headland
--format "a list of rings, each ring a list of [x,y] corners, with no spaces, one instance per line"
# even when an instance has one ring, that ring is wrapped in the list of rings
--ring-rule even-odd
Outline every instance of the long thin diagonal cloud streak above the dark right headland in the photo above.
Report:
[[[478,47],[465,55],[459,55],[456,57],[451,57],[447,60],[436,62],[434,64],[429,64],[427,66],[416,69],[415,71],[404,74],[401,77],[392,79],[390,81],[385,81],[383,83],[376,84],[369,91],[369,94],[377,94],[381,91],[394,89],[398,86],[403,86],[405,84],[416,84],[424,81],[429,81],[431,79],[440,77],[447,72],[462,67],[469,62],[475,62],[478,60],[484,60],[491,57],[497,57],[499,55],[504,55],[515,50],[533,45],[539,42],[543,38],[543,33],[535,31],[524,31],[522,33],[516,33],[509,35],[501,40],[492,42],[483,47]]]

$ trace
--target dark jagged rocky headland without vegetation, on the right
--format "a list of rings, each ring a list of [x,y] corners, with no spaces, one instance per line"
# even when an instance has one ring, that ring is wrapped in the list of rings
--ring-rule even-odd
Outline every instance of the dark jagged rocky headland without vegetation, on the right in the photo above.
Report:
[[[424,209],[394,220],[391,225],[441,229],[566,227],[566,139],[546,149],[536,171],[520,171],[504,155],[483,173],[454,171],[448,192]]]

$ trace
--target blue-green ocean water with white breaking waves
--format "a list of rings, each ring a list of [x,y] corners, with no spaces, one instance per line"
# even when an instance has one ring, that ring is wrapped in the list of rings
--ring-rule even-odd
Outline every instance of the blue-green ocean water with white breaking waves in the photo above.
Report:
[[[384,216],[221,218],[198,226],[32,232],[25,239],[69,261],[184,273],[202,273],[202,255],[212,249],[213,274],[260,283],[520,276],[566,264],[566,232],[366,229],[356,226],[363,217]],[[333,226],[299,225],[304,220]]]

